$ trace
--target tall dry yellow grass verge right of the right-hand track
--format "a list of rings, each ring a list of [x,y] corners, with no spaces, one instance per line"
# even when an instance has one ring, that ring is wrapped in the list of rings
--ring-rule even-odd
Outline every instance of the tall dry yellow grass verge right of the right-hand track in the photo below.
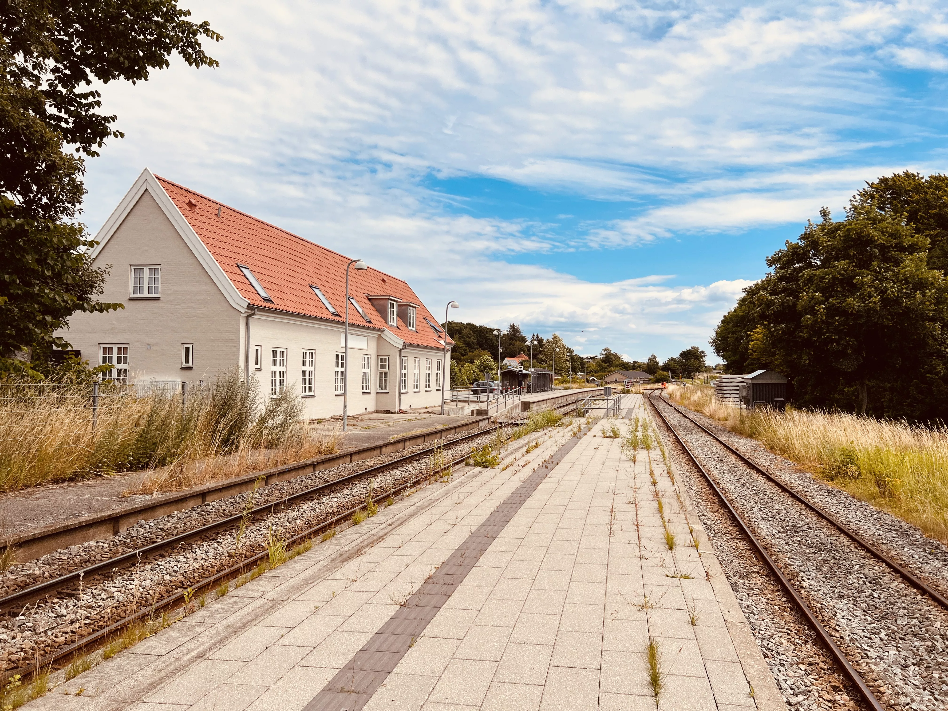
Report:
[[[668,390],[676,403],[948,543],[948,431],[845,412],[739,410],[710,387]]]

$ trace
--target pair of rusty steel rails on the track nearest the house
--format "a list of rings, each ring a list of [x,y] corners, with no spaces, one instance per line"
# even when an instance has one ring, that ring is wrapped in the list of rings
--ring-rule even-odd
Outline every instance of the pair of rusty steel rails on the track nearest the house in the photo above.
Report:
[[[571,407],[574,409],[575,403],[566,403],[554,408],[554,410],[569,410]],[[501,424],[495,428],[480,429],[443,444],[426,447],[425,449],[412,452],[404,457],[398,457],[380,465],[370,466],[354,473],[319,483],[316,486],[305,488],[292,495],[284,496],[279,500],[253,506],[239,514],[213,520],[210,523],[184,533],[163,538],[154,543],[123,552],[118,556],[111,556],[92,565],[70,571],[67,574],[58,575],[52,579],[30,585],[22,590],[0,597],[0,615],[6,614],[9,618],[10,616],[16,615],[18,611],[22,613],[30,605],[35,604],[39,606],[40,604],[48,603],[50,599],[55,600],[57,596],[65,595],[71,597],[75,594],[77,588],[81,596],[83,586],[89,589],[107,579],[109,575],[114,579],[117,571],[120,569],[127,569],[131,565],[139,566],[143,561],[154,559],[155,556],[163,556],[167,552],[180,550],[183,546],[189,544],[193,545],[202,540],[213,538],[215,535],[221,535],[227,532],[228,529],[246,525],[248,520],[259,520],[262,518],[265,520],[267,517],[272,517],[275,514],[291,511],[293,506],[300,505],[306,501],[314,501],[326,492],[340,489],[346,490],[348,486],[356,483],[365,483],[367,480],[374,480],[385,472],[398,470],[399,467],[406,465],[424,465],[426,458],[432,455],[440,456],[443,453],[448,454],[447,460],[444,460],[437,466],[428,466],[427,469],[423,469],[417,476],[411,477],[408,481],[378,489],[378,493],[371,496],[371,501],[375,504],[382,503],[391,497],[410,490],[412,487],[426,480],[438,478],[441,474],[454,466],[463,464],[470,456],[470,448],[467,446],[472,440],[493,437],[497,430],[517,427],[525,419],[526,417],[523,417],[519,420]],[[457,456],[459,445],[462,446],[460,448],[463,450],[463,453]],[[285,550],[291,550],[293,547],[312,538],[316,538],[330,529],[335,529],[340,522],[351,519],[357,511],[364,510],[368,501],[370,501],[370,499],[357,501],[355,506],[349,506],[341,513],[334,512],[335,515],[307,526],[304,530],[285,540]],[[267,550],[244,556],[236,563],[228,565],[224,567],[223,570],[216,571],[199,581],[193,582],[191,585],[179,586],[180,589],[171,592],[171,594],[166,594],[160,600],[153,599],[150,604],[144,606],[142,609],[134,611],[131,614],[126,614],[116,622],[109,622],[105,626],[100,627],[100,629],[94,629],[83,636],[77,634],[75,642],[61,645],[51,650],[50,653],[37,655],[35,659],[26,665],[6,670],[3,673],[4,680],[9,679],[14,674],[19,674],[22,678],[27,678],[30,674],[41,668],[50,668],[57,662],[67,660],[86,648],[94,647],[97,644],[107,641],[122,629],[128,629],[130,626],[142,622],[145,619],[153,618],[155,613],[174,609],[182,603],[187,603],[193,599],[195,595],[200,595],[203,591],[213,590],[222,583],[226,583],[235,577],[252,571],[264,564],[268,556],[269,552]],[[6,681],[4,681],[4,683],[6,683]]]

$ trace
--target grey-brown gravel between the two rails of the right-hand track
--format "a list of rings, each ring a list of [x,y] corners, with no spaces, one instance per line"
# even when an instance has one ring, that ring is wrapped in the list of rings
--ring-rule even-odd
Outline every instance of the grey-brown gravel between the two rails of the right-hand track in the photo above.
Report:
[[[942,688],[948,679],[948,611],[775,483],[752,474],[684,413],[667,404],[656,407],[679,429],[746,521],[749,534],[759,539],[761,555],[773,557],[782,571],[777,574],[786,575],[842,651],[839,663],[851,663],[866,680],[866,702],[901,709],[941,707],[948,701]]]

